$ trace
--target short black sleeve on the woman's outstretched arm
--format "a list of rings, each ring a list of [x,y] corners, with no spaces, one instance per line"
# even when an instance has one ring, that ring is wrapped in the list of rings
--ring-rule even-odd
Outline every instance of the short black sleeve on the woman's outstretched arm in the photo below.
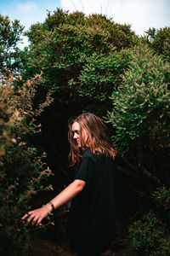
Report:
[[[89,174],[93,172],[94,169],[94,161],[86,156],[82,157],[80,166],[77,169],[75,179],[81,179],[85,182],[88,182]]]

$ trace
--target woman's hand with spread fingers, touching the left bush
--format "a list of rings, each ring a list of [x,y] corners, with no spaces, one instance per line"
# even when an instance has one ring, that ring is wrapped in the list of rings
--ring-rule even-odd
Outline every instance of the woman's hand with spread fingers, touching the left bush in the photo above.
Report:
[[[51,206],[47,204],[41,208],[26,213],[22,219],[26,220],[26,225],[31,224],[32,226],[38,226],[42,222],[42,219],[48,216],[49,212],[51,212]]]

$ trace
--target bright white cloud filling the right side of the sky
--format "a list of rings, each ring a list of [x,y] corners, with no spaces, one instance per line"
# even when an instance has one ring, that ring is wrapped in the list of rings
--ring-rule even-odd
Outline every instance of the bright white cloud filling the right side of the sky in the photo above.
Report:
[[[60,0],[63,9],[102,13],[114,21],[132,25],[139,35],[149,27],[170,26],[170,0]]]

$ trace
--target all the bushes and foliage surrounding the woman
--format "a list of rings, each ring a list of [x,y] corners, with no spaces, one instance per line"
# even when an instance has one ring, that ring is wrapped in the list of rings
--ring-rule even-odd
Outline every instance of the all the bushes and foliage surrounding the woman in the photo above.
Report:
[[[149,29],[139,38],[105,15],[57,9],[31,26],[30,46],[21,51],[20,22],[0,15],[0,24],[0,253],[26,254],[29,231],[20,217],[51,174],[37,148],[47,152],[52,183],[60,191],[72,177],[67,120],[89,111],[112,128],[122,183],[118,214],[124,214],[122,223],[129,220],[134,255],[167,256],[169,27]],[[42,111],[52,102],[48,91],[54,102]],[[64,214],[58,216],[63,226]]]

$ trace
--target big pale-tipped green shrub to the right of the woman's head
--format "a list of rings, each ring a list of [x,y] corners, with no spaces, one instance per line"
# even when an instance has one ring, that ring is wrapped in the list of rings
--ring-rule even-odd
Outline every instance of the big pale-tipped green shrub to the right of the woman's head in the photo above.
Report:
[[[111,96],[114,108],[108,114],[116,129],[113,140],[121,154],[137,145],[154,143],[166,148],[170,143],[169,63],[146,45],[132,51],[129,69]]]

